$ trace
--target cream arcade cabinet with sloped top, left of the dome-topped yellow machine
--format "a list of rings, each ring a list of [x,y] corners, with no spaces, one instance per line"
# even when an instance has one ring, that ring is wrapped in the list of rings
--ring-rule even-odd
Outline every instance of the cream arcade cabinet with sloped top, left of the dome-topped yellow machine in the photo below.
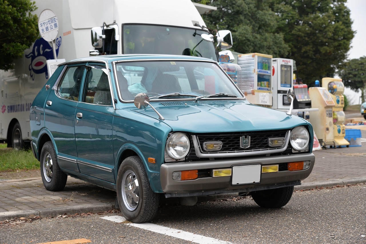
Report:
[[[322,147],[335,146],[333,132],[333,107],[335,102],[325,87],[310,87],[309,96],[313,104],[313,108],[317,111],[310,111],[309,121],[313,125],[313,129],[319,143]]]

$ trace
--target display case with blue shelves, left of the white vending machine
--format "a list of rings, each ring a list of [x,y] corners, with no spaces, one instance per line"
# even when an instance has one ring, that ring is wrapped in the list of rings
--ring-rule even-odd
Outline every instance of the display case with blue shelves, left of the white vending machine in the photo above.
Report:
[[[240,90],[252,104],[272,107],[272,56],[261,53],[238,55],[242,69]]]

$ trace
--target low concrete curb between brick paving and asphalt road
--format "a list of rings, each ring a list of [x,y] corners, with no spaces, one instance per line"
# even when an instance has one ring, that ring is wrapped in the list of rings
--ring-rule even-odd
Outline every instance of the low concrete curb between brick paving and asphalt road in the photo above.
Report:
[[[296,185],[295,191],[310,190],[316,188],[327,188],[335,187],[337,185],[354,185],[366,183],[366,177],[355,177],[340,180],[326,180],[326,181],[315,181],[309,183],[303,183],[302,185]],[[229,197],[229,196],[228,196]],[[111,203],[97,203],[97,204],[81,204],[78,206],[65,206],[65,207],[50,207],[36,210],[18,210],[18,211],[7,211],[0,213],[0,221],[10,220],[21,217],[55,217],[63,214],[75,214],[75,213],[98,213],[102,211],[109,211],[115,208],[114,204]]]

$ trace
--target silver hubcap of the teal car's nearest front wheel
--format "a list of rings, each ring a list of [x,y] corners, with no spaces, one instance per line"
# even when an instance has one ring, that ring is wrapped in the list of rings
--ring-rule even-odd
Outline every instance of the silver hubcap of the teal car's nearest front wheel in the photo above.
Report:
[[[140,199],[139,182],[132,170],[127,170],[122,177],[122,198],[124,206],[130,211],[134,211]]]

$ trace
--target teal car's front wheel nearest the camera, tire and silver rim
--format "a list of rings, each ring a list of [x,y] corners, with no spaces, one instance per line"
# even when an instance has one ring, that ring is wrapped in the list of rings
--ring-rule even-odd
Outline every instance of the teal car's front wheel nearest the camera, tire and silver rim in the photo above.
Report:
[[[117,174],[117,199],[123,216],[134,223],[152,220],[159,195],[150,188],[142,161],[137,156],[123,160]]]

